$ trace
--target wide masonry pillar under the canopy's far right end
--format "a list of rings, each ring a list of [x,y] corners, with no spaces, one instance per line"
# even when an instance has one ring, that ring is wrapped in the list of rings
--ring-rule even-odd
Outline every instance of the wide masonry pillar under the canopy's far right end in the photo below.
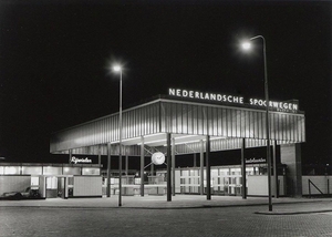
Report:
[[[302,197],[301,145],[281,145],[280,158],[287,165],[287,194]]]

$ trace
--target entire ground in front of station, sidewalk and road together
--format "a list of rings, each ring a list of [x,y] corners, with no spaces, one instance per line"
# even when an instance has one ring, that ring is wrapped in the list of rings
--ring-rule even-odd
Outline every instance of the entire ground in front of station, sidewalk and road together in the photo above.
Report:
[[[0,236],[332,236],[332,199],[134,200],[1,202]]]

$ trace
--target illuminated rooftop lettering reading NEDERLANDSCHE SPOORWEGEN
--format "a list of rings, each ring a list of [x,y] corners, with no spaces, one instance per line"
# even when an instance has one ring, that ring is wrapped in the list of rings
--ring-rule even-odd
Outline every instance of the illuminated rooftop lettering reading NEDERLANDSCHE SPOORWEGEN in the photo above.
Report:
[[[242,96],[230,95],[230,94],[219,94],[219,93],[209,93],[209,92],[200,92],[200,91],[191,91],[191,90],[183,90],[183,89],[168,89],[168,95],[177,96],[177,97],[188,97],[188,99],[198,99],[205,101],[217,101],[217,102],[226,102],[232,104],[249,104],[252,106],[267,106],[267,102],[260,99],[249,99],[245,100]],[[279,112],[292,112],[297,113],[299,110],[298,103],[291,102],[277,102],[269,101],[269,107],[276,109]]]

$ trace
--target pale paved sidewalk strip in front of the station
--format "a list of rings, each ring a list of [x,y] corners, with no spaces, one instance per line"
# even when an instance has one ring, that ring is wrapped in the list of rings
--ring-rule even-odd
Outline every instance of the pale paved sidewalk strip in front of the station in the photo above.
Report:
[[[166,196],[123,196],[118,206],[118,196],[103,198],[49,198],[29,200],[0,200],[1,207],[48,207],[48,208],[142,208],[142,209],[181,209],[181,208],[214,208],[231,206],[267,206],[264,215],[294,215],[304,213],[332,212],[332,198],[273,198],[273,210],[268,210],[267,197],[212,196],[210,200],[199,195],[176,195],[172,202]]]

